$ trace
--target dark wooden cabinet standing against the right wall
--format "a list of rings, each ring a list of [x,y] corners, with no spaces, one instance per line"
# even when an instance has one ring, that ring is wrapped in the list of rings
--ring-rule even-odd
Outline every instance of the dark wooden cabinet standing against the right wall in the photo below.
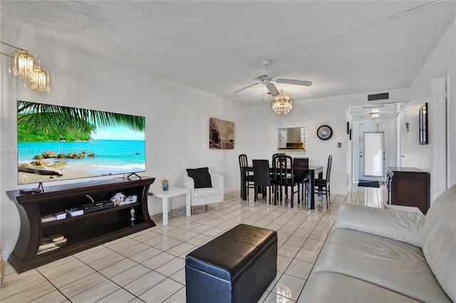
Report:
[[[426,214],[430,206],[430,174],[418,168],[388,168],[388,204],[415,206]]]

